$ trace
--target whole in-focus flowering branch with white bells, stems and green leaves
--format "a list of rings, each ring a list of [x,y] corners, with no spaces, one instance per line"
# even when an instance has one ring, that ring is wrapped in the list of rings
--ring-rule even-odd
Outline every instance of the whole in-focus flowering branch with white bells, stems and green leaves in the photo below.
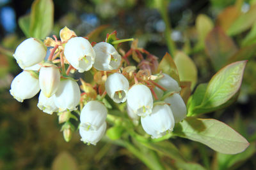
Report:
[[[228,62],[221,69],[216,65],[211,80],[197,85],[196,66],[186,53],[171,49],[172,56],[166,53],[159,60],[140,48],[138,39],[118,39],[116,31],[98,43],[68,27],[60,30],[60,38],[35,37],[20,43],[13,54],[23,71],[12,81],[10,94],[22,102],[41,90],[37,106],[58,115],[65,141],[79,132],[87,145],[101,140],[123,146],[151,169],[164,169],[156,153],[168,155],[177,167],[189,165],[172,138],[197,141],[226,154],[248,147],[248,141],[223,122],[197,118],[236,101],[246,60]],[[131,48],[125,52],[120,44],[129,41]],[[93,80],[82,78],[85,73]]]

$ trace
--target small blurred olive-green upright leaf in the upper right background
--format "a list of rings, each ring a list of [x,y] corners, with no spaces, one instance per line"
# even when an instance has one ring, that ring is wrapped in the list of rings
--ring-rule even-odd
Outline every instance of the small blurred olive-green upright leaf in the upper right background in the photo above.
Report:
[[[207,34],[213,29],[214,24],[207,15],[200,14],[196,17],[196,31],[198,33],[198,45],[204,47],[204,40]],[[198,47],[197,47],[198,48]]]

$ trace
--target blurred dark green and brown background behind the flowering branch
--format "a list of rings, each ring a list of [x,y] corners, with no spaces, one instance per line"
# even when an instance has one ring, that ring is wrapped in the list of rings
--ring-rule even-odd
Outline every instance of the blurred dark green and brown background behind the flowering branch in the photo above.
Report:
[[[78,132],[66,143],[60,132],[58,116],[47,115],[36,107],[38,96],[19,103],[10,95],[10,83],[22,71],[12,58],[12,53],[26,39],[18,20],[29,14],[32,3],[32,0],[0,0],[0,169],[147,169],[140,160],[119,146],[104,141],[100,141],[97,146],[84,145]],[[225,27],[229,27],[228,23],[233,22],[230,18],[236,20],[239,15],[255,8],[255,1],[173,0],[167,1],[164,6],[167,10],[166,20],[163,13],[161,15],[159,12],[163,11],[163,7],[157,7],[157,0],[54,0],[53,3],[54,27],[49,36],[58,36],[64,26],[74,30],[77,36],[86,36],[97,29],[91,40],[99,42],[106,38],[108,32],[116,30],[118,38],[138,38],[138,46],[159,58],[170,49],[166,41],[172,38],[177,49],[183,50],[194,60],[198,69],[198,83],[209,81],[218,71],[216,67],[222,67],[219,63],[214,64],[215,60],[211,58],[214,55],[211,49],[214,47],[210,46],[209,52],[205,36],[200,38],[200,26],[196,27],[198,15],[208,16],[202,22],[202,31],[206,30],[205,27],[212,29],[214,25],[225,31]],[[234,11],[228,12],[230,6],[240,6],[241,13],[231,15]],[[226,13],[221,18],[223,10]],[[246,21],[250,20],[246,29],[230,33],[230,37],[224,35],[224,40],[217,42],[220,43],[219,48],[225,48],[227,41],[232,41],[231,46],[235,46],[232,52],[244,52],[238,59],[248,59],[237,102],[224,110],[201,116],[216,118],[230,125],[248,139],[250,147],[238,156],[229,156],[216,153],[200,143],[181,138],[170,139],[188,162],[196,162],[206,169],[256,169],[255,16],[256,10],[251,11],[241,23],[248,25]],[[170,34],[166,34],[166,22],[172,25],[172,33],[167,32]],[[229,38],[230,41],[227,40]],[[129,45],[131,43],[124,43],[122,49],[129,50]],[[163,159],[166,162],[173,161]]]

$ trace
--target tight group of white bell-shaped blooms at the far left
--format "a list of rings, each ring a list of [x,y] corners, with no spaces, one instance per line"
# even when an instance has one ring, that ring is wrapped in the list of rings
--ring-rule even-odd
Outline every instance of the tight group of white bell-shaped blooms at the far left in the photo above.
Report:
[[[79,86],[74,80],[60,80],[58,66],[44,62],[45,54],[44,45],[35,38],[26,39],[17,47],[13,56],[24,71],[12,81],[10,93],[22,102],[41,90],[37,106],[45,113],[76,110]]]

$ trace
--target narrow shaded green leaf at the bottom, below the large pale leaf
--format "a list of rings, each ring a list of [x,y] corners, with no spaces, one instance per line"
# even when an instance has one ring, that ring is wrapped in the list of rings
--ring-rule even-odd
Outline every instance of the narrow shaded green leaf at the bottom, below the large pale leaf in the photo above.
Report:
[[[155,150],[156,152],[162,153],[163,155],[170,157],[171,159],[180,160],[182,162],[185,161],[184,157],[180,154],[176,146],[170,143],[169,141],[161,141],[157,143],[142,143],[142,144],[152,150]]]

